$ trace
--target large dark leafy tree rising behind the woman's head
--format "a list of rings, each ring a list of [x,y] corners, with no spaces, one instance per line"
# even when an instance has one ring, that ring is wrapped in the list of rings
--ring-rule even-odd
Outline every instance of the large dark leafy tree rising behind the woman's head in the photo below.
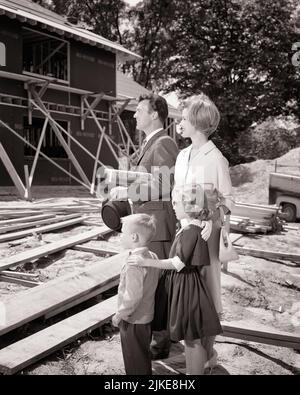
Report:
[[[299,97],[292,10],[289,0],[177,3],[167,89],[184,96],[204,91],[216,102],[222,113],[217,140],[232,163],[241,160],[237,137],[254,121],[298,111],[287,104]]]

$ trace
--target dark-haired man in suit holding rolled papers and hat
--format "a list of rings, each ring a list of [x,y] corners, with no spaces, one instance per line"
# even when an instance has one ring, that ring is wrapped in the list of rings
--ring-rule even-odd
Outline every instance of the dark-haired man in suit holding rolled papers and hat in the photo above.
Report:
[[[142,130],[146,136],[135,170],[140,171],[142,168],[153,175],[153,180],[140,184],[136,189],[116,187],[111,190],[111,197],[114,199],[130,198],[133,201],[134,213],[154,215],[157,231],[149,249],[159,259],[169,257],[176,232],[171,190],[178,147],[163,128],[167,117],[168,104],[162,96],[140,96],[134,118],[137,129]],[[159,333],[154,332],[153,336],[153,359],[166,358],[169,354],[169,337],[165,331]]]

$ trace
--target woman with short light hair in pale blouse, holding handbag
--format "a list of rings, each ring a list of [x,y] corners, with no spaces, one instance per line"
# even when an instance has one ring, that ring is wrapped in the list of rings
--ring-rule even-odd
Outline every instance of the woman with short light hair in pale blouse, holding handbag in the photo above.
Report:
[[[230,212],[233,206],[232,186],[227,159],[215,144],[209,140],[216,131],[220,114],[216,105],[204,94],[192,96],[183,104],[182,120],[179,132],[184,138],[190,138],[192,144],[183,149],[176,160],[175,186],[186,184],[205,184],[209,192],[217,190],[223,196],[222,205]],[[225,210],[226,211],[226,210]],[[182,224],[184,225],[184,223]],[[222,313],[221,301],[221,262],[219,261],[219,239],[221,220],[219,210],[212,220],[212,231],[208,239],[210,265],[203,270],[205,282],[209,288],[216,311]],[[213,357],[214,337],[207,339],[207,366],[216,361]]]

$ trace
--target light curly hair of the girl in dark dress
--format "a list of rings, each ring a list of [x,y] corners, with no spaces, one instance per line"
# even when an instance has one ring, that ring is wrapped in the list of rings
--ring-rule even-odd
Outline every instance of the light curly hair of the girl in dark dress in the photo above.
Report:
[[[199,184],[175,187],[172,193],[172,200],[182,202],[184,212],[190,218],[206,221],[212,216],[212,211],[208,209],[206,193]]]

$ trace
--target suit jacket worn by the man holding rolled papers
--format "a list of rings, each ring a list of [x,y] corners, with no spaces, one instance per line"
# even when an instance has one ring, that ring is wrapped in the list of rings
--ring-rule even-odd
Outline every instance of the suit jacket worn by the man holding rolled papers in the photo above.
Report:
[[[172,242],[176,232],[176,217],[172,207],[171,190],[174,184],[174,167],[178,155],[176,142],[162,130],[155,134],[145,145],[137,161],[136,171],[146,170],[154,175],[154,181],[139,185],[141,196],[148,196],[145,200],[133,200],[134,213],[146,213],[156,218],[156,236],[154,242]],[[142,169],[141,169],[142,167]],[[156,167],[154,170],[153,168]],[[164,168],[163,168],[164,167]],[[166,169],[171,169],[171,176],[166,183]],[[156,170],[161,170],[158,177]],[[162,192],[164,196],[162,196]],[[153,196],[151,197],[151,192]],[[151,197],[151,198],[150,198]],[[129,193],[129,198],[132,198]],[[151,249],[151,248],[150,248]],[[156,252],[156,251],[154,251]]]

